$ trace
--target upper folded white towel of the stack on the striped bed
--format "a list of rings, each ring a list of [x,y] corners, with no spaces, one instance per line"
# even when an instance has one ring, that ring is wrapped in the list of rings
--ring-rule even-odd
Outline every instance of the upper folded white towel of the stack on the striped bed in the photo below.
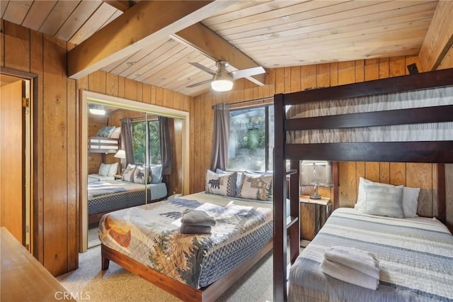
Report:
[[[370,252],[355,247],[333,246],[324,251],[324,258],[379,279],[379,261]]]

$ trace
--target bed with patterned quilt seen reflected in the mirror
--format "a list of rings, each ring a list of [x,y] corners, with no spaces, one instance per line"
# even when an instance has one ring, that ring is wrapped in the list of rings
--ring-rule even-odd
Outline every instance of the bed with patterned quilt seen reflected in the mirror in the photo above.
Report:
[[[89,224],[97,223],[105,213],[159,201],[167,196],[166,184],[163,182],[145,186],[110,177],[102,179],[88,182]]]

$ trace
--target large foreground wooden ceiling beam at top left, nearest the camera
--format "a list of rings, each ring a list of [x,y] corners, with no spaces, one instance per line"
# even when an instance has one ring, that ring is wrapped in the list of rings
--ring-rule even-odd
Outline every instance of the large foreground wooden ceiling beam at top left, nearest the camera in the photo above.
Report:
[[[80,79],[212,16],[235,1],[140,1],[68,52],[68,77]]]

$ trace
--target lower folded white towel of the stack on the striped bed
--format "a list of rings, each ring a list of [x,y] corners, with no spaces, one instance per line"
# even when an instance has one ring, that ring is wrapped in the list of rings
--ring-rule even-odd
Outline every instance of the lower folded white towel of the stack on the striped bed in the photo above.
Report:
[[[363,274],[355,269],[351,269],[350,267],[345,267],[343,264],[329,261],[326,258],[324,258],[323,262],[321,262],[321,269],[324,274],[328,274],[333,278],[348,282],[350,284],[365,287],[366,289],[376,290],[379,285],[379,279]]]

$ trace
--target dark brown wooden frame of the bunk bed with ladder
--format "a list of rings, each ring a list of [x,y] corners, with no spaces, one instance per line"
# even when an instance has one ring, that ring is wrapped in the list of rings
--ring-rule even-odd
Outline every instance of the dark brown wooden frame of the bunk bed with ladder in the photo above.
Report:
[[[298,178],[300,160],[364,161],[364,162],[430,162],[437,163],[438,206],[437,218],[445,223],[445,163],[453,163],[453,141],[430,142],[348,142],[323,144],[289,144],[286,131],[308,129],[355,128],[411,123],[437,123],[453,121],[453,105],[426,108],[400,109],[380,112],[352,113],[317,118],[286,119],[285,106],[329,99],[370,96],[398,91],[428,89],[453,85],[453,69],[424,72],[402,77],[369,82],[332,86],[274,96],[275,149],[274,149],[274,301],[287,298],[287,235],[291,264],[299,255],[299,202],[290,203],[290,216],[286,217],[284,181],[286,160]],[[292,173],[292,172],[290,172]],[[291,192],[299,190],[298,181],[291,181]],[[334,184],[334,204],[338,205],[338,179]]]

